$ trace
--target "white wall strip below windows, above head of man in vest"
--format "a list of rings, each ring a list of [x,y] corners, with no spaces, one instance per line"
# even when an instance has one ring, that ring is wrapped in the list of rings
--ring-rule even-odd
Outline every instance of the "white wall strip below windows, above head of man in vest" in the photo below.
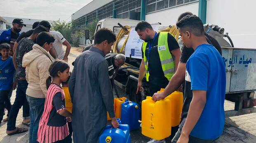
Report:
[[[184,5],[181,7],[175,7],[164,11],[159,11],[153,14],[146,15],[146,21],[148,23],[162,23],[162,25],[175,25],[178,16],[186,11],[190,11],[195,15],[198,15],[198,2],[190,5]]]

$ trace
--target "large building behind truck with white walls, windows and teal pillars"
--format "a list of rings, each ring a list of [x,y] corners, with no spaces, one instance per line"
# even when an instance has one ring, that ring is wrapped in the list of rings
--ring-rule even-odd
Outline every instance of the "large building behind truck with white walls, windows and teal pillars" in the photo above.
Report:
[[[80,26],[104,18],[125,18],[174,25],[178,16],[190,11],[204,23],[223,27],[235,47],[256,48],[254,0],[93,0],[71,15]]]

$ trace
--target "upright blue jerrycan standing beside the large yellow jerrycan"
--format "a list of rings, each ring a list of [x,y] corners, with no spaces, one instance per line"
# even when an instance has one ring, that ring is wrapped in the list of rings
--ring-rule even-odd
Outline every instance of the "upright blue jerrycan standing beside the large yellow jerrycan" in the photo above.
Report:
[[[139,129],[140,108],[139,104],[131,102],[128,99],[122,103],[121,111],[122,123],[129,125],[130,131]]]

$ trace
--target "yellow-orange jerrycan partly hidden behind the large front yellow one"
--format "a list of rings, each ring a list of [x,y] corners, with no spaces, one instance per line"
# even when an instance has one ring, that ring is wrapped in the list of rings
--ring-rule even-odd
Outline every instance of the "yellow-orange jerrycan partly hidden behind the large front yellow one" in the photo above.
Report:
[[[164,89],[161,89],[159,92],[163,92]],[[179,91],[174,91],[168,95],[165,99],[171,101],[171,127],[178,126],[181,122],[181,111],[183,107],[183,94]]]

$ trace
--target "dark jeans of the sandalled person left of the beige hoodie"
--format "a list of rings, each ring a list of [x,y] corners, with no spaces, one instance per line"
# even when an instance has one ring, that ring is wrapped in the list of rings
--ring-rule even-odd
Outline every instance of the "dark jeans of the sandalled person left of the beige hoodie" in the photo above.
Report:
[[[23,117],[29,117],[29,105],[26,99],[26,90],[28,82],[26,80],[17,80],[16,98],[12,105],[10,114],[8,116],[7,130],[12,131],[16,129],[16,118],[19,109],[23,106]]]

